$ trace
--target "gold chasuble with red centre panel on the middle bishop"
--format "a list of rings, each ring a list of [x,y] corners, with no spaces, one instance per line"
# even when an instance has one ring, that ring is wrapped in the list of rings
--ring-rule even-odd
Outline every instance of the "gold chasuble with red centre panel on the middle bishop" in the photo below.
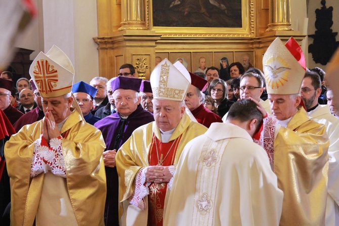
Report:
[[[168,143],[160,142],[160,130],[155,122],[141,126],[133,132],[116,154],[116,167],[119,175],[120,225],[142,226],[147,225],[147,221],[150,225],[156,225],[153,224],[155,222],[162,225],[163,212],[170,193],[167,183],[151,184],[148,187],[150,197],[145,196],[146,206],[141,210],[131,205],[129,201],[135,191],[136,176],[140,170],[149,165],[158,165],[162,160],[163,166],[176,166],[188,141],[204,134],[206,130],[207,128],[203,125],[192,122],[185,113]],[[158,155],[155,142],[158,145]],[[168,152],[172,145],[171,151]],[[160,208],[152,208],[154,204],[160,204]],[[151,205],[152,207],[149,208]],[[130,209],[134,209],[134,211],[131,212]],[[148,214],[151,214],[150,217]]]

